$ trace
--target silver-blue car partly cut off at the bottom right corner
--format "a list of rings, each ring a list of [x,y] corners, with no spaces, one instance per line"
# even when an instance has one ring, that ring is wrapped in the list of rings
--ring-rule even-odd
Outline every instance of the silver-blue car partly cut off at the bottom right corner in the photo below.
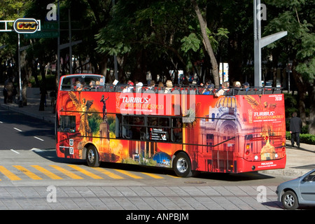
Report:
[[[315,206],[315,169],[297,179],[281,183],[276,188],[276,195],[285,209],[297,209],[300,204]]]

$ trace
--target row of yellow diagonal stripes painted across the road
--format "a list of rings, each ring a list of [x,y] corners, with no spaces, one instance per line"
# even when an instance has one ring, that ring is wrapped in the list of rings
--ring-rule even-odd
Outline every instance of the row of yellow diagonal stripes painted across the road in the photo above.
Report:
[[[104,174],[105,176],[110,177],[111,179],[125,179],[124,176],[129,176],[132,179],[144,179],[145,177],[139,176],[137,174],[133,174],[132,172],[127,172],[123,169],[113,169],[114,172],[110,172],[107,169],[104,169],[102,167],[86,167],[85,169],[78,166],[78,165],[67,165],[67,167],[70,167],[71,169],[74,169],[76,172],[79,172],[79,174],[74,174],[72,170],[66,169],[66,167],[60,167],[58,165],[49,165],[49,167],[53,168],[45,169],[44,167],[38,166],[38,165],[29,165],[33,169],[36,169],[40,174],[45,174],[45,176],[48,176],[50,179],[53,180],[61,180],[64,179],[65,176],[68,176],[71,179],[84,179],[83,176],[80,176],[80,174],[84,174],[85,176],[89,176],[92,179],[104,179],[102,176],[99,176],[97,174],[94,174],[90,171],[87,171],[87,169],[92,169],[92,171],[99,172],[100,174]],[[26,167],[23,167],[21,165],[12,165],[12,167],[15,168],[15,171],[22,172],[22,175],[25,174],[25,176],[28,176],[32,180],[43,180],[43,176],[40,174],[35,174],[31,169],[28,169]],[[59,174],[55,174],[55,172],[60,172],[60,174],[64,174],[65,176],[60,176]],[[118,172],[119,174],[115,174],[115,172]],[[6,167],[0,166],[0,174],[3,174],[6,176],[10,181],[20,181],[21,176],[20,174],[16,174],[12,169],[6,169]],[[121,175],[120,175],[121,174]],[[159,176],[157,174],[152,173],[146,173],[146,172],[139,172],[139,174],[144,174],[145,176],[149,176],[153,179],[165,179],[163,176]],[[167,175],[170,176],[170,175]],[[174,176],[172,176],[174,177]],[[0,179],[0,181],[3,181]]]

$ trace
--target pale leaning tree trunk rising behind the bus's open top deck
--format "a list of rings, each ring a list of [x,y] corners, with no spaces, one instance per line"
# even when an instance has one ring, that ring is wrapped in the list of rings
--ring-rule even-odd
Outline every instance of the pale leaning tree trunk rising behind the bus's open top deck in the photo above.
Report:
[[[210,62],[212,66],[212,74],[214,76],[214,85],[218,87],[220,85],[219,74],[218,74],[218,62],[216,61],[216,57],[214,56],[214,50],[212,50],[211,43],[207,35],[207,29],[206,29],[207,25],[206,25],[206,22],[204,22],[204,18],[202,18],[202,14],[200,12],[199,6],[197,5],[197,2],[195,0],[190,0],[190,1],[195,8],[195,12],[197,14],[197,18],[200,23],[202,38],[204,39],[203,41],[204,47],[206,48],[210,57]]]

